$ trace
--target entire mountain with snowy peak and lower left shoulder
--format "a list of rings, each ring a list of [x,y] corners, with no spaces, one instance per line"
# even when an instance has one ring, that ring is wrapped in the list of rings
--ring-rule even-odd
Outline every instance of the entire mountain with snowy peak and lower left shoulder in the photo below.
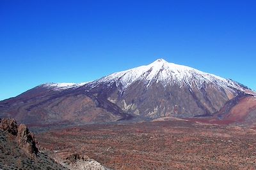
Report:
[[[161,117],[221,119],[228,117],[232,108],[244,99],[252,98],[249,112],[254,111],[255,95],[236,81],[158,59],[147,66],[88,83],[39,85],[1,101],[0,116],[15,117],[27,124]]]

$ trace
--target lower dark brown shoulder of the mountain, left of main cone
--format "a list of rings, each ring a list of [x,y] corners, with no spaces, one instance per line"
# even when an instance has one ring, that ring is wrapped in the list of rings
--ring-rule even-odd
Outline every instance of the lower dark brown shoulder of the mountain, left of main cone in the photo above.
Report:
[[[50,84],[52,85],[52,83]],[[25,124],[111,122],[130,118],[118,106],[77,87],[40,85],[20,96],[0,102],[0,117],[14,117]]]

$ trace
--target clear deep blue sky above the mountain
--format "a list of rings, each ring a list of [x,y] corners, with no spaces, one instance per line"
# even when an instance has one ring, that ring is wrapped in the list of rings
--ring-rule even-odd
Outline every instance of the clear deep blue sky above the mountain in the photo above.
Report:
[[[0,100],[158,58],[256,90],[255,1],[0,1]]]

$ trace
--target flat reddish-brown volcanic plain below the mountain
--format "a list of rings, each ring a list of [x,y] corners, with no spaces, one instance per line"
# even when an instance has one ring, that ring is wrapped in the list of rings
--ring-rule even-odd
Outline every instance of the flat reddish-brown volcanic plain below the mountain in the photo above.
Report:
[[[183,120],[93,124],[36,134],[55,157],[86,154],[112,169],[255,169],[256,131]]]

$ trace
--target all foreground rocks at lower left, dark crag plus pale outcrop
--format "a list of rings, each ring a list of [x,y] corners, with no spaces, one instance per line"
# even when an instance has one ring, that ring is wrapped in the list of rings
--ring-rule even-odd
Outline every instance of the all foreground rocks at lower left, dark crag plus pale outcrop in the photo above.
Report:
[[[39,151],[34,134],[13,118],[0,119],[0,152],[0,169],[107,169],[86,155],[52,157],[47,150]]]

